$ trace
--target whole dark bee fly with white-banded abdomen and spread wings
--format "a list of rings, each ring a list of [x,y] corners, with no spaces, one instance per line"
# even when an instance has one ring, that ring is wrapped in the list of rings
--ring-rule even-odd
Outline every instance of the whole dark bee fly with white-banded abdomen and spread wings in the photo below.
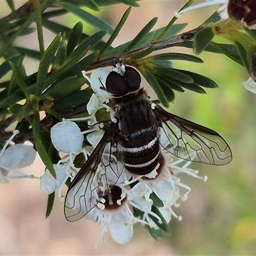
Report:
[[[113,96],[113,118],[68,188],[68,221],[79,220],[91,211],[99,198],[111,191],[124,170],[134,175],[160,172],[164,154],[213,165],[231,161],[231,150],[217,132],[152,104],[140,83],[140,74],[132,67],[118,65],[109,73],[104,90]],[[103,191],[102,184],[107,187]]]

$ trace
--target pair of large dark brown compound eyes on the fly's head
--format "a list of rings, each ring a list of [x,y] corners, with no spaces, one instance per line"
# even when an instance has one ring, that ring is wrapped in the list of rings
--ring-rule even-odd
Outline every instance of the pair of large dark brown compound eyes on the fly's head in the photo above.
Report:
[[[131,67],[125,67],[125,74],[112,71],[106,79],[106,89],[114,96],[122,96],[129,92],[135,92],[140,88],[141,77],[137,70]]]

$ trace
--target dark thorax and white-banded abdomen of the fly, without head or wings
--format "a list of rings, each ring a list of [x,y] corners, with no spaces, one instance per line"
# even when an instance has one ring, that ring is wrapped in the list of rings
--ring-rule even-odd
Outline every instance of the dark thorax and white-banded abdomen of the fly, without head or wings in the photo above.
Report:
[[[120,133],[120,152],[125,168],[134,174],[145,175],[152,172],[159,163],[159,136],[157,135],[157,117],[151,104],[143,100],[122,99],[122,104],[116,104],[115,118]]]

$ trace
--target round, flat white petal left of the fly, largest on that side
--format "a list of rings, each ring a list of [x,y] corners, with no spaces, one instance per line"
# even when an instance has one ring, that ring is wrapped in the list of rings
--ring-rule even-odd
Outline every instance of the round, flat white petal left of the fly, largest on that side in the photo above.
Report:
[[[51,129],[51,140],[59,152],[77,152],[83,147],[84,136],[75,122],[64,121]]]

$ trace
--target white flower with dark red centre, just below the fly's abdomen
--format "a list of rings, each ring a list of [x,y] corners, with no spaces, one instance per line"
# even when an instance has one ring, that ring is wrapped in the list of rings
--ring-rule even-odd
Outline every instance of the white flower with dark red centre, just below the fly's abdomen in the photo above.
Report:
[[[141,182],[138,182],[133,188],[127,186],[125,182],[118,182],[111,189],[111,193],[104,196],[100,203],[86,215],[87,218],[99,224],[99,241],[106,232],[109,232],[117,243],[127,243],[133,236],[134,223],[139,221],[147,224],[145,220],[134,216],[133,209],[154,214],[151,211],[153,202],[149,198],[151,193],[152,190]]]

